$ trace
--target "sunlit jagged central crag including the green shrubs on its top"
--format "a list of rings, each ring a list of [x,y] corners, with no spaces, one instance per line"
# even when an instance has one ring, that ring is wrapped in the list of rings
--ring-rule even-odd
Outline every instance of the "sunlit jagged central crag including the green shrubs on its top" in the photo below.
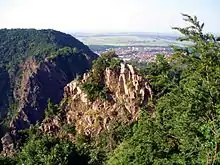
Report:
[[[65,86],[64,98],[59,105],[60,115],[46,118],[41,124],[43,132],[63,134],[62,125],[66,124],[75,127],[79,134],[93,137],[108,130],[112,121],[126,125],[138,119],[141,107],[148,105],[152,99],[148,80],[140,76],[132,65],[111,56],[105,58],[105,55],[100,57],[82,79],[73,80]],[[114,60],[117,64],[112,67]],[[102,67],[96,65],[99,61],[102,61],[100,65],[105,65],[104,61],[110,62]],[[94,80],[96,69],[101,69],[99,87]]]

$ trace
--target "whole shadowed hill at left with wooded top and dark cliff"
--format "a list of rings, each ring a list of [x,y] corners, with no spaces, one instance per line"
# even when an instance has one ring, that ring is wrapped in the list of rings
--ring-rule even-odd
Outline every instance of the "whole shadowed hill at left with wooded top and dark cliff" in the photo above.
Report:
[[[1,29],[1,127],[10,123],[13,132],[41,121],[47,100],[59,103],[63,87],[88,71],[96,57],[83,43],[58,31]]]

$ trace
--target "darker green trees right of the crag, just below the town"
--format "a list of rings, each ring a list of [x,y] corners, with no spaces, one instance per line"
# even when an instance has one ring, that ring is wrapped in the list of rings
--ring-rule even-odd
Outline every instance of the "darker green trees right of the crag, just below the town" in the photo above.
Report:
[[[178,61],[177,61],[178,59]],[[146,77],[154,93],[154,101],[170,92],[180,81],[182,72],[181,57],[172,60],[165,59],[163,55],[156,55],[155,62],[132,63],[138,68],[138,72]]]

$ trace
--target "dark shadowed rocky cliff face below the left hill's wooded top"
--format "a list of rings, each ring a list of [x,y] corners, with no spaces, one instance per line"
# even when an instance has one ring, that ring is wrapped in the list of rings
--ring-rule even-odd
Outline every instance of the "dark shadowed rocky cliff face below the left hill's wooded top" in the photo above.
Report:
[[[40,64],[31,58],[21,66],[22,77],[13,92],[17,100],[17,112],[10,121],[9,133],[1,139],[4,153],[13,152],[19,139],[18,130],[29,128],[37,121],[41,122],[44,119],[48,99],[58,104],[63,98],[64,87],[77,75],[85,73],[93,60],[86,56],[82,56],[80,60],[74,56],[59,58],[62,57],[46,59]],[[69,66],[71,60],[79,63],[80,69],[77,69],[76,65]]]

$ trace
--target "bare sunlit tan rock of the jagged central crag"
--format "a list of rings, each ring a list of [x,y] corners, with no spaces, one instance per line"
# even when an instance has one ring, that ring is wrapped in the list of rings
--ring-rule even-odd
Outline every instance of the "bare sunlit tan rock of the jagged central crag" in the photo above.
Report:
[[[117,120],[131,123],[138,118],[141,105],[152,97],[148,80],[139,76],[133,66],[121,63],[119,70],[106,68],[105,86],[109,89],[108,99],[91,102],[81,85],[89,78],[85,74],[81,81],[72,81],[64,88],[63,108],[68,124],[76,131],[93,136],[108,129],[108,123]]]

